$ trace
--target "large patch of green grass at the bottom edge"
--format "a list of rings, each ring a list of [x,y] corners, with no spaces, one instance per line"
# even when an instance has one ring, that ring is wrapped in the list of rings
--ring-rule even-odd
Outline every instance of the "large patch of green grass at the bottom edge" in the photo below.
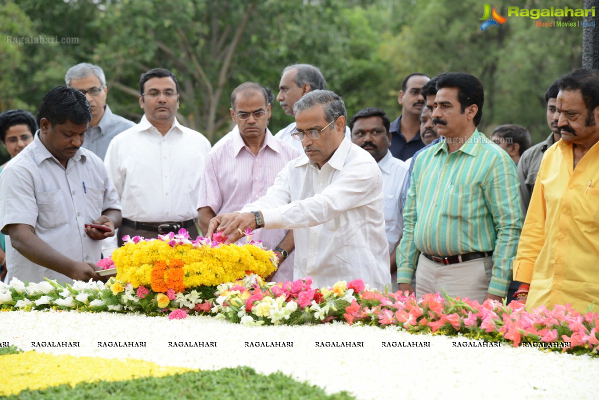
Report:
[[[276,372],[258,374],[249,367],[224,368],[218,371],[186,372],[162,378],[140,378],[119,382],[81,383],[45,390],[23,391],[10,400],[355,400],[347,392],[326,395],[323,389],[299,383]]]

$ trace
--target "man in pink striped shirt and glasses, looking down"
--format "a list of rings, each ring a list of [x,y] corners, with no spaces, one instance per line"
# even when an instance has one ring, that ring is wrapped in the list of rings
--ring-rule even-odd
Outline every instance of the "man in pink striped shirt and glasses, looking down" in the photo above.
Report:
[[[208,153],[200,184],[198,216],[204,234],[212,217],[241,210],[264,196],[279,171],[301,156],[299,150],[275,138],[268,130],[270,104],[259,84],[246,82],[233,90],[231,118],[239,131]],[[274,249],[279,257],[279,269],[271,279],[293,280],[293,232],[259,229],[252,238],[261,240],[267,249]],[[241,239],[240,243],[244,241]]]

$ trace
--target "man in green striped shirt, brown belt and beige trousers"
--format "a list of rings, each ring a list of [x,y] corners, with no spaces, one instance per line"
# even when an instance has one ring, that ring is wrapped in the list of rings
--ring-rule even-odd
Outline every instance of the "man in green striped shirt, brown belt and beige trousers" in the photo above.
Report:
[[[432,117],[445,137],[416,159],[397,249],[400,290],[479,302],[506,296],[522,229],[518,171],[476,126],[484,92],[474,75],[437,81]],[[416,268],[418,266],[418,269]]]

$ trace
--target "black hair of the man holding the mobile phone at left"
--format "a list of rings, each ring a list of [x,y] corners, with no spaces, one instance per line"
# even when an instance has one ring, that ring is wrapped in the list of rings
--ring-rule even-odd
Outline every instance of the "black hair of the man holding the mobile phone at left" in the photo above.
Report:
[[[83,93],[74,87],[58,86],[46,93],[37,114],[37,123],[45,118],[56,126],[69,120],[75,125],[83,125],[92,120],[92,109]]]

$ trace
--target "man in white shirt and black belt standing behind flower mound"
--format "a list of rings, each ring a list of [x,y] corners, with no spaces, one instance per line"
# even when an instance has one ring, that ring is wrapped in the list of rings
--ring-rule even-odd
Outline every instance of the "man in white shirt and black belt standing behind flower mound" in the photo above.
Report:
[[[141,122],[111,141],[104,162],[123,207],[123,235],[146,238],[179,232],[192,238],[199,181],[210,142],[199,132],[182,126],[179,83],[168,69],[154,68],[141,75]]]

